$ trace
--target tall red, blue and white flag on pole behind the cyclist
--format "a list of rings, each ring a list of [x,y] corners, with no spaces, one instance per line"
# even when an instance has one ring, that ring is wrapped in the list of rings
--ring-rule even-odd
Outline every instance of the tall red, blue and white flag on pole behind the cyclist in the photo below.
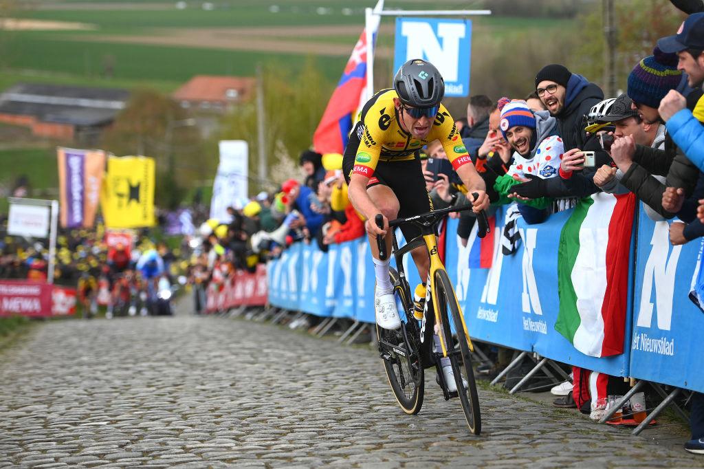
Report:
[[[384,0],[379,0],[374,9],[379,11],[383,6]],[[380,16],[374,15],[373,18],[372,25],[370,25],[372,48],[377,39]],[[318,128],[313,134],[313,148],[320,154],[344,154],[354,117],[366,102],[367,50],[367,30],[365,28],[354,46],[337,88],[332,92],[325,113],[323,113]]]

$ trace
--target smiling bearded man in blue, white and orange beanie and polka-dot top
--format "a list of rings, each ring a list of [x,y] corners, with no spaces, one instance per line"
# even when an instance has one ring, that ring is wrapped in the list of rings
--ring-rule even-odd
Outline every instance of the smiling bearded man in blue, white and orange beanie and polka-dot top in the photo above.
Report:
[[[564,152],[562,139],[557,135],[557,121],[547,111],[534,113],[525,101],[514,100],[501,109],[501,133],[510,144],[513,163],[508,173],[494,182],[501,196],[499,203],[508,203],[512,187],[528,175],[546,180],[558,175],[560,155]],[[539,198],[518,201],[518,210],[526,223],[542,223],[547,216],[550,199]]]

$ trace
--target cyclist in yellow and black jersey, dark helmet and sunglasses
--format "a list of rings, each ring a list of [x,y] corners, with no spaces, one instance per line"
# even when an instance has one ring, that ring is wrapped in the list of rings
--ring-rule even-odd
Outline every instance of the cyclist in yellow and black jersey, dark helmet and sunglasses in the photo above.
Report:
[[[384,329],[398,329],[401,318],[389,280],[389,259],[379,260],[376,239],[377,235],[384,236],[386,251],[391,252],[389,220],[432,210],[420,148],[438,139],[468,192],[478,194],[472,200],[474,212],[489,206],[484,180],[474,169],[453,118],[441,104],[444,94],[444,80],[432,63],[421,59],[404,63],[394,77],[394,88],[382,89],[364,105],[345,149],[342,167],[349,185],[348,196],[366,219],[377,282],[375,316]],[[383,215],[384,229],[375,223],[378,213]],[[420,235],[413,226],[402,227],[401,231],[406,239]],[[429,257],[425,246],[414,249],[411,255],[420,278],[426,279]],[[415,295],[417,299],[425,298],[425,284],[416,288]],[[416,318],[422,318],[422,307]],[[439,342],[437,337],[435,342]],[[456,389],[449,389],[455,387],[449,364],[444,359],[443,371],[452,392]]]

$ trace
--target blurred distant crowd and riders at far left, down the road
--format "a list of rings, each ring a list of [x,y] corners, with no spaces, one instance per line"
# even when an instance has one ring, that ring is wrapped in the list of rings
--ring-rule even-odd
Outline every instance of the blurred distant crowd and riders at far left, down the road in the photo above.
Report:
[[[162,220],[163,221],[163,220]],[[119,313],[147,313],[146,301],[137,301],[135,294],[148,291],[164,277],[175,284],[189,268],[187,244],[170,249],[160,225],[156,229],[128,230],[127,239],[109,244],[101,220],[95,228],[58,229],[53,282],[75,288],[77,310],[92,317],[99,306],[112,317],[113,307],[120,300],[120,289],[128,296],[122,301],[125,310]],[[0,222],[0,278],[46,282],[49,278],[49,239],[11,236],[7,219]],[[176,237],[175,239],[181,239]],[[158,272],[152,267],[158,263]],[[150,283],[150,281],[153,281]]]

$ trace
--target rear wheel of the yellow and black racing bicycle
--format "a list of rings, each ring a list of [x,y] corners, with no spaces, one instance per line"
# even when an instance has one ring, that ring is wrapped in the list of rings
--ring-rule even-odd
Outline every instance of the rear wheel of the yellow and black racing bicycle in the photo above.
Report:
[[[410,297],[403,289],[398,273],[392,268],[389,275],[394,284],[401,328],[386,330],[377,325],[379,354],[398,406],[413,415],[420,412],[425,392],[425,373],[420,359],[420,327],[413,318]]]

